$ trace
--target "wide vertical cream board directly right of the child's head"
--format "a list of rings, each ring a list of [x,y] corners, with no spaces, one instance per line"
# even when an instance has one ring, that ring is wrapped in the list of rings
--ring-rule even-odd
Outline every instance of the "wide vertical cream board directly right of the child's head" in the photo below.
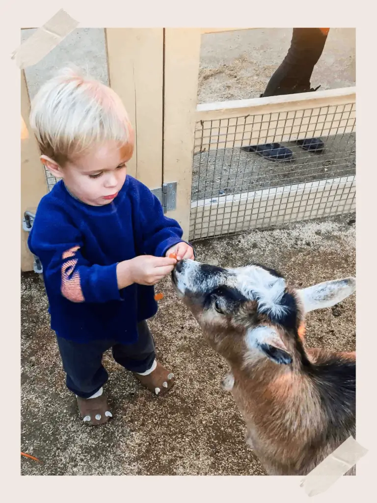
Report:
[[[150,189],[162,184],[163,29],[107,28],[110,86],[135,129],[128,173]]]

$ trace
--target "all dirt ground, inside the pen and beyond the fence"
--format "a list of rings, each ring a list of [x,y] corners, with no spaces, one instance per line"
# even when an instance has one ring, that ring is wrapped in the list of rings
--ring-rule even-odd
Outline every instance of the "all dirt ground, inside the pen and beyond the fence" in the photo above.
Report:
[[[24,31],[23,40],[32,32]],[[313,73],[314,86],[321,84],[323,89],[331,89],[354,85],[354,32],[330,31]],[[291,35],[291,29],[204,35],[198,102],[259,96],[285,56]],[[86,67],[93,76],[107,82],[103,30],[76,30],[38,65],[27,68],[31,97],[55,68],[67,62]],[[315,156],[311,157],[311,164],[304,166],[305,173],[312,179],[324,175],[324,170],[333,169],[334,155],[343,151],[342,145],[329,147],[327,164],[324,159],[319,163]],[[227,169],[229,172],[225,188],[233,192],[239,192],[241,180],[251,184],[246,190],[271,184],[275,179],[280,181],[280,177],[294,183],[292,167],[288,165],[282,169],[279,163],[280,170],[276,171],[276,165],[259,158],[255,161],[257,156],[239,149],[237,153],[221,155],[221,161],[205,157],[194,161],[198,163],[194,164],[198,172],[200,163],[205,162],[213,173],[210,171],[209,180],[203,185],[194,184],[193,199],[224,190],[223,180],[216,180],[220,164],[225,165],[226,175]],[[241,166],[238,172],[229,170],[232,161],[227,157],[234,155]],[[344,165],[336,164],[336,170],[353,173],[353,162],[354,157],[348,155]],[[354,221],[350,214],[294,223],[197,242],[195,247],[201,262],[218,262],[224,267],[260,262],[280,270],[294,286],[309,286],[355,274]],[[174,372],[176,385],[165,397],[153,396],[107,353],[104,365],[110,378],[106,391],[114,417],[103,427],[89,428],[79,420],[75,399],[65,387],[43,285],[34,273],[22,275],[21,450],[43,462],[38,464],[22,457],[23,475],[263,474],[246,446],[244,424],[231,395],[220,389],[225,362],[207,346],[199,325],[177,301],[170,280],[161,282],[157,291],[164,293],[164,299],[150,326],[157,357]],[[309,315],[307,344],[336,351],[354,350],[354,296],[333,309]]]

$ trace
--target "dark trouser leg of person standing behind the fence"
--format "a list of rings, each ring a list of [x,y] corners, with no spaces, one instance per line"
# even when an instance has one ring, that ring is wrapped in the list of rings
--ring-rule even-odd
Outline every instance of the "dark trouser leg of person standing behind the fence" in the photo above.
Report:
[[[294,28],[288,54],[269,79],[262,96],[310,91],[310,78],[326,39],[327,35],[319,28]]]

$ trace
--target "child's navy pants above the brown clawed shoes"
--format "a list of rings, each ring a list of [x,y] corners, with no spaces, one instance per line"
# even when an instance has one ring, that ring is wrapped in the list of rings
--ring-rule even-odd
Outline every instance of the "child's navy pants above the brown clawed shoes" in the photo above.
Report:
[[[63,368],[67,374],[67,388],[81,398],[89,398],[101,389],[109,377],[102,365],[102,357],[110,348],[114,360],[125,369],[139,373],[150,369],[155,358],[155,347],[146,321],[138,324],[138,334],[134,344],[119,344],[112,340],[76,343],[57,336]]]

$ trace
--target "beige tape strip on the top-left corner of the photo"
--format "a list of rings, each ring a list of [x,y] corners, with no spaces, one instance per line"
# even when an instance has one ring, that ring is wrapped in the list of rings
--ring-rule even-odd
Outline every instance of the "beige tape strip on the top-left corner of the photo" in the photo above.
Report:
[[[17,66],[21,69],[38,63],[77,25],[78,21],[60,9],[12,53],[12,59],[15,59]]]

